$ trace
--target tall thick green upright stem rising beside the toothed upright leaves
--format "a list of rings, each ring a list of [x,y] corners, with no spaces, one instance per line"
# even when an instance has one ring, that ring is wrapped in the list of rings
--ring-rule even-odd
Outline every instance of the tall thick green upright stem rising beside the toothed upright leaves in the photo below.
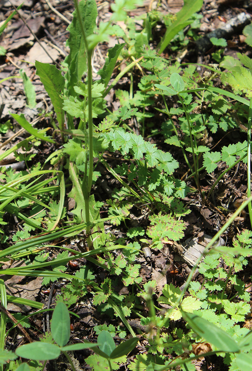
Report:
[[[86,49],[87,55],[87,105],[88,105],[88,131],[89,131],[89,170],[88,170],[88,177],[84,177],[82,183],[82,193],[84,197],[84,205],[85,205],[85,221],[87,223],[86,227],[86,234],[87,234],[87,244],[89,249],[93,249],[92,247],[92,239],[89,236],[90,233],[90,210],[89,210],[89,197],[90,191],[92,188],[92,179],[93,179],[93,119],[92,119],[92,53],[93,49],[89,49],[87,44],[86,35],[83,28],[83,22],[80,17],[78,1],[74,0],[74,6],[76,8],[77,17],[79,19],[80,28],[82,31],[83,41]],[[87,145],[87,143],[86,143]]]

